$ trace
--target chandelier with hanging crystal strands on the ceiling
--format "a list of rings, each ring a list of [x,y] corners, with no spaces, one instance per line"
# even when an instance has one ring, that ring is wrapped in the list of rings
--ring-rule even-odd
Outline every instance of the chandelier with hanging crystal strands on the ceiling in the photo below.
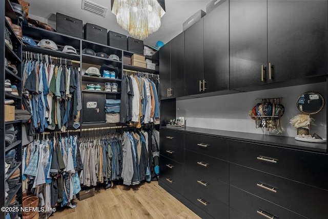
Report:
[[[111,0],[117,23],[133,38],[143,40],[160,27],[164,0]]]

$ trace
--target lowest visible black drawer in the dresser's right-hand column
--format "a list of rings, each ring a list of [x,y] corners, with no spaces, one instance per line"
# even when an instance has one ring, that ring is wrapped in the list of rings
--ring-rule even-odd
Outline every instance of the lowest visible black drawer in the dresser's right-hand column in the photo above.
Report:
[[[230,207],[253,219],[306,218],[233,186],[230,186]]]

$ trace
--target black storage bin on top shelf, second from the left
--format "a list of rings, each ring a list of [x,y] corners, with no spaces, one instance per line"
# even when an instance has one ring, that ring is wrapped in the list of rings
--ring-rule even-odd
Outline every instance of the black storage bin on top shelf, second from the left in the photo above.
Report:
[[[88,41],[107,45],[107,29],[87,23],[84,26],[84,38]]]

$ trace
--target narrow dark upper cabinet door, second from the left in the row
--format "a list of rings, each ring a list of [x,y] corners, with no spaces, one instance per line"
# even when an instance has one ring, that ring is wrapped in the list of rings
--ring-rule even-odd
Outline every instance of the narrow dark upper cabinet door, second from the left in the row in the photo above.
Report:
[[[185,95],[185,83],[183,81],[185,78],[185,32],[177,35],[170,43],[171,97],[175,98]]]

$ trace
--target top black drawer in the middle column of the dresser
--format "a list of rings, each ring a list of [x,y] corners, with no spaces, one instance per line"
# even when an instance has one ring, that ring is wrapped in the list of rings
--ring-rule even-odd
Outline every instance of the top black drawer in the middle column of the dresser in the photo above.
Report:
[[[229,161],[229,141],[222,138],[186,133],[185,148]]]

